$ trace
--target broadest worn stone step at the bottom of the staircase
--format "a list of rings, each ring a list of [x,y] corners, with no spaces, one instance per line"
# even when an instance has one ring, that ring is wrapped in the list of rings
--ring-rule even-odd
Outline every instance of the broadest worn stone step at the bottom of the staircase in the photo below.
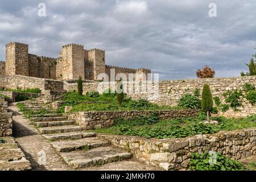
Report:
[[[97,147],[92,150],[75,150],[60,152],[64,161],[73,168],[101,166],[119,160],[130,159],[132,154],[113,147]]]

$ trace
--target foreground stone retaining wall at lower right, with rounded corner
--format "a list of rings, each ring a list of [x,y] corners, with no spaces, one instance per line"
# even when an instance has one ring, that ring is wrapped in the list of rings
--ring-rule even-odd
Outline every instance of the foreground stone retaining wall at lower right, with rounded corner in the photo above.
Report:
[[[188,169],[191,154],[202,154],[210,146],[211,151],[237,160],[256,154],[256,127],[182,139],[146,139],[108,134],[98,134],[98,137],[108,139],[114,146],[133,153],[136,158],[165,170]]]

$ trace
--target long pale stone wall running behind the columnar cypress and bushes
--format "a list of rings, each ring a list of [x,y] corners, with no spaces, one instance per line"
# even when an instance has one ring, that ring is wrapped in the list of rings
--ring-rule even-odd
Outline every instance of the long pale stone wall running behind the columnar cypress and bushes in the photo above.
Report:
[[[124,82],[125,83],[125,82]],[[154,102],[159,105],[176,106],[179,99],[183,94],[193,94],[195,89],[200,90],[200,95],[203,91],[203,85],[208,84],[212,92],[213,97],[220,97],[222,104],[225,103],[225,98],[222,96],[227,90],[242,89],[245,83],[256,85],[256,76],[245,76],[245,77],[223,77],[223,78],[204,78],[204,79],[191,79],[191,80],[168,80],[159,81],[158,85],[152,83],[152,90],[142,89],[147,88],[145,82],[133,85],[130,90],[129,86],[124,85],[125,92],[131,98],[137,100],[139,98],[146,98],[147,100]],[[76,84],[65,84],[65,90],[77,90]],[[83,91],[91,92],[93,90],[104,92],[105,89],[115,89],[115,83],[105,84],[104,82],[89,82],[83,84]],[[155,90],[155,88],[159,88]],[[129,90],[129,92],[127,92]],[[157,92],[159,90],[159,92]],[[159,97],[154,97],[159,96]],[[234,111],[229,109],[228,111],[221,112],[220,115],[225,117],[246,117],[247,115],[256,114],[255,105],[251,105],[245,98],[242,100],[242,107],[238,108],[240,111]]]

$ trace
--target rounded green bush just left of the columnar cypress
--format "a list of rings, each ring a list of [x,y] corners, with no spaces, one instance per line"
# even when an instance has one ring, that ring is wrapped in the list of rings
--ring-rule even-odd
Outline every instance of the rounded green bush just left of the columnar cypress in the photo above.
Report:
[[[181,96],[178,106],[186,109],[200,109],[201,100],[196,96],[192,96],[191,94],[184,94]]]

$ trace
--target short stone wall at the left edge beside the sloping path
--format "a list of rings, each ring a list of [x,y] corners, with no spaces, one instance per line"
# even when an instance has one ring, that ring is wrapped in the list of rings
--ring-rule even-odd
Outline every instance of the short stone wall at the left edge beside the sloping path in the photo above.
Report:
[[[0,137],[9,137],[13,134],[13,113],[7,112],[7,102],[0,103]]]

